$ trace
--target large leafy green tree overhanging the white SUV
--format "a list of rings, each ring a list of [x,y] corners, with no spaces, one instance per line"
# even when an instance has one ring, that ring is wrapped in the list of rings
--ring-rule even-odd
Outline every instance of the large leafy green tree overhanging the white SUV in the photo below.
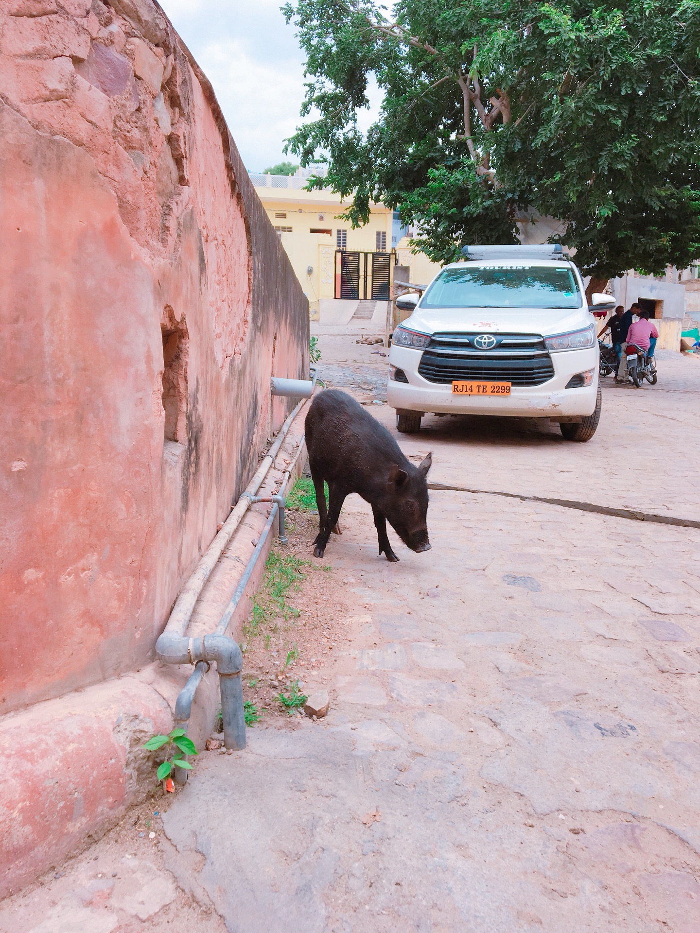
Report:
[[[561,220],[591,287],[700,255],[700,0],[293,0],[309,77],[288,141],[330,185],[398,208],[430,258]],[[371,77],[383,92],[367,133]]]

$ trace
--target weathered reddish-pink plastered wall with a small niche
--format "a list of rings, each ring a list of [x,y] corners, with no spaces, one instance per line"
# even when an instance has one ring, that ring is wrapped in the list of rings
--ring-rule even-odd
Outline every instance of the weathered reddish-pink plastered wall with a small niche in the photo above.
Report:
[[[290,408],[271,374],[308,372],[301,286],[152,0],[0,0],[0,320],[5,712],[147,661]]]

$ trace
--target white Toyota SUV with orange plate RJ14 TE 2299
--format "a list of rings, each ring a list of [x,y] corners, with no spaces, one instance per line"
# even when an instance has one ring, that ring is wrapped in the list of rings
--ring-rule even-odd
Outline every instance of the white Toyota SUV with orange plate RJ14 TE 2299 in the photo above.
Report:
[[[561,246],[469,246],[394,329],[388,402],[397,428],[427,412],[548,418],[590,440],[600,418],[598,343],[581,273]],[[594,305],[610,304],[594,295]]]

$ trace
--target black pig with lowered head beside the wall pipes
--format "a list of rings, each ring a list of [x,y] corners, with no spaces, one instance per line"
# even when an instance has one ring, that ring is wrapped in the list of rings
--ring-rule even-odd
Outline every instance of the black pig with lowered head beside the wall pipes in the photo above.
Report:
[[[345,496],[357,493],[369,502],[379,539],[379,553],[398,561],[386,536],[386,522],[411,550],[430,549],[427,539],[427,454],[413,466],[384,425],[354,398],[326,389],[315,396],[306,415],[306,446],[318,504],[315,557],[323,557]],[[323,481],[329,484],[329,505]]]

